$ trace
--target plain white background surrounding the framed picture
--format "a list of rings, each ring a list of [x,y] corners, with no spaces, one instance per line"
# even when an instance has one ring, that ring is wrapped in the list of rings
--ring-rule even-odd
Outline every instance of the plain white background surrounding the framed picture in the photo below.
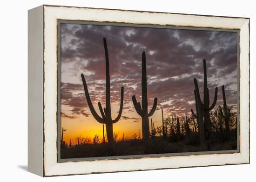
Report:
[[[251,164],[41,178],[27,172],[27,10],[42,4],[250,18]],[[251,0],[3,0],[0,6],[0,181],[255,181],[256,13]]]

